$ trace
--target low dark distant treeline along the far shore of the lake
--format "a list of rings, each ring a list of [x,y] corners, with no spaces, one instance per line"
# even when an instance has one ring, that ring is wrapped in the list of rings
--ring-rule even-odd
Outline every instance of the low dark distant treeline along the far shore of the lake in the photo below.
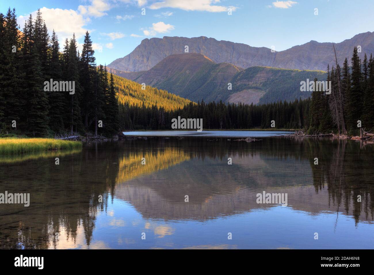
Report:
[[[309,128],[310,98],[292,103],[278,102],[263,105],[224,104],[210,102],[190,103],[183,109],[165,111],[163,108],[139,107],[125,104],[121,106],[122,129],[171,129],[171,120],[181,118],[202,118],[204,129],[249,129]]]

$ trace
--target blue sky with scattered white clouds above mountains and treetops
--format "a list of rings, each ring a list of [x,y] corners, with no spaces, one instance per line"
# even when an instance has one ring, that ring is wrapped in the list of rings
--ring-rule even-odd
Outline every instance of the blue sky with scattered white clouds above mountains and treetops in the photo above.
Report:
[[[96,62],[103,65],[152,37],[206,36],[283,51],[310,40],[338,43],[374,31],[373,0],[0,1],[1,13],[8,7],[16,9],[21,29],[40,8],[61,48],[75,33],[81,49],[88,30]]]

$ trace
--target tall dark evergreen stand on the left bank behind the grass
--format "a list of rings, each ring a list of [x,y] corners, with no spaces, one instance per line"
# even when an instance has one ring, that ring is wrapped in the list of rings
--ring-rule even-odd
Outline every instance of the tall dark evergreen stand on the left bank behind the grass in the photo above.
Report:
[[[77,51],[75,35],[65,39],[60,51],[58,37],[54,30],[49,36],[40,10],[35,19],[29,16],[22,31],[15,9],[0,13],[1,133],[117,133],[119,106],[113,75],[102,65],[96,67],[94,53],[88,32],[82,53]],[[50,79],[74,82],[74,94],[45,91],[45,81]]]

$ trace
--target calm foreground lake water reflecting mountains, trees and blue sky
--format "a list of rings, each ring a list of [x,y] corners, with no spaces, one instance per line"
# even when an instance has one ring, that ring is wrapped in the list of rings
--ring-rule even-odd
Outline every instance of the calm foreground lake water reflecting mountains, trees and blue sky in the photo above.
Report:
[[[1,156],[0,193],[31,203],[0,204],[0,248],[374,248],[373,152],[343,139],[148,138]],[[263,191],[288,205],[257,204]]]

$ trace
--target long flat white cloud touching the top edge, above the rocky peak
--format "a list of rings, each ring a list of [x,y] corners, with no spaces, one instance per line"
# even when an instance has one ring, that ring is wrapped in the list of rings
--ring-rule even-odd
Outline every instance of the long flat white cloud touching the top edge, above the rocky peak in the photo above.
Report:
[[[171,7],[182,10],[199,10],[206,12],[227,12],[226,6],[217,6],[213,3],[218,3],[220,0],[164,0],[150,5],[150,9],[161,9],[163,7]],[[236,7],[230,7],[233,11]]]

